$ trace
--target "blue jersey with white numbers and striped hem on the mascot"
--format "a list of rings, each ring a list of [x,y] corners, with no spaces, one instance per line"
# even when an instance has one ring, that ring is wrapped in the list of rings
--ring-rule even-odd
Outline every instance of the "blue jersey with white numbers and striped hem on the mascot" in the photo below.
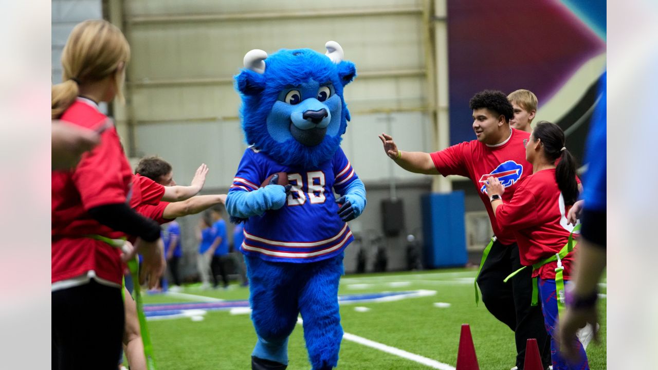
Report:
[[[340,147],[329,161],[313,169],[276,163],[254,147],[245,151],[233,179],[231,192],[257,190],[276,172],[286,172],[292,185],[286,205],[249,217],[240,250],[267,261],[313,262],[342,253],[353,240],[352,232],[338,216],[334,191],[358,178]]]

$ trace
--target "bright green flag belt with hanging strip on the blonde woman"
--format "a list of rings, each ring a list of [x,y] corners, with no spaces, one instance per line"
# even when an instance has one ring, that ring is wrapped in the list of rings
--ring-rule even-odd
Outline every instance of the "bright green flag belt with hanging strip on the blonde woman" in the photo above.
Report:
[[[114,248],[122,249],[126,244],[125,239],[111,239],[101,235],[87,235],[88,238],[95,240],[100,240]],[[124,250],[124,253],[127,251]],[[146,317],[144,316],[143,303],[141,301],[141,286],[139,286],[139,259],[135,255],[133,259],[126,262],[128,264],[128,269],[130,269],[130,276],[132,277],[133,282],[133,298],[137,305],[137,317],[139,320],[139,332],[141,332],[141,342],[144,345],[144,357],[146,357],[146,368],[148,370],[155,370],[155,357],[153,357],[153,344],[151,344],[151,335],[149,334],[149,329],[146,326]],[[121,295],[124,297],[124,287],[125,281],[121,286]]]

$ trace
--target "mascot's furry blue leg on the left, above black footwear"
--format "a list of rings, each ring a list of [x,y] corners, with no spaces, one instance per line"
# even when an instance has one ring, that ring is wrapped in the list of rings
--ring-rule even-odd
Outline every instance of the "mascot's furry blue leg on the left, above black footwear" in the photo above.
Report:
[[[251,369],[282,370],[288,367],[288,336],[297,323],[297,295],[293,263],[245,257],[249,276],[251,321],[258,341],[251,354]],[[293,269],[291,269],[293,267]]]

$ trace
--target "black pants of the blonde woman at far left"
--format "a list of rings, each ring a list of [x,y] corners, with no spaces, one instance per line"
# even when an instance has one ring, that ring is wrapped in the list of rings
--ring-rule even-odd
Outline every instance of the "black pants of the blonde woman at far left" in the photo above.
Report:
[[[116,370],[124,332],[120,288],[88,284],[51,294],[53,370]]]

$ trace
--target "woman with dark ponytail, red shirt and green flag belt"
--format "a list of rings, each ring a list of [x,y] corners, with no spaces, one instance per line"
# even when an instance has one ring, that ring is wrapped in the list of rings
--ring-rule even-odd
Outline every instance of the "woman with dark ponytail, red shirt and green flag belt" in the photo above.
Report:
[[[522,265],[534,265],[532,277],[539,281],[544,323],[551,335],[553,370],[589,369],[585,350],[575,336],[574,346],[580,348],[581,355],[578,363],[567,363],[555,342],[557,294],[564,297],[560,275],[568,282],[574,257],[573,252],[565,254],[566,250],[559,259],[555,254],[565,248],[574,230],[574,225],[567,222],[567,211],[578,198],[576,162],[565,147],[565,134],[557,124],[539,122],[524,145],[532,174],[519,181],[513,198],[503,203],[501,194],[505,187],[493,176],[487,180],[486,192],[498,225],[511,230],[517,239]],[[546,261],[550,257],[555,258]]]

